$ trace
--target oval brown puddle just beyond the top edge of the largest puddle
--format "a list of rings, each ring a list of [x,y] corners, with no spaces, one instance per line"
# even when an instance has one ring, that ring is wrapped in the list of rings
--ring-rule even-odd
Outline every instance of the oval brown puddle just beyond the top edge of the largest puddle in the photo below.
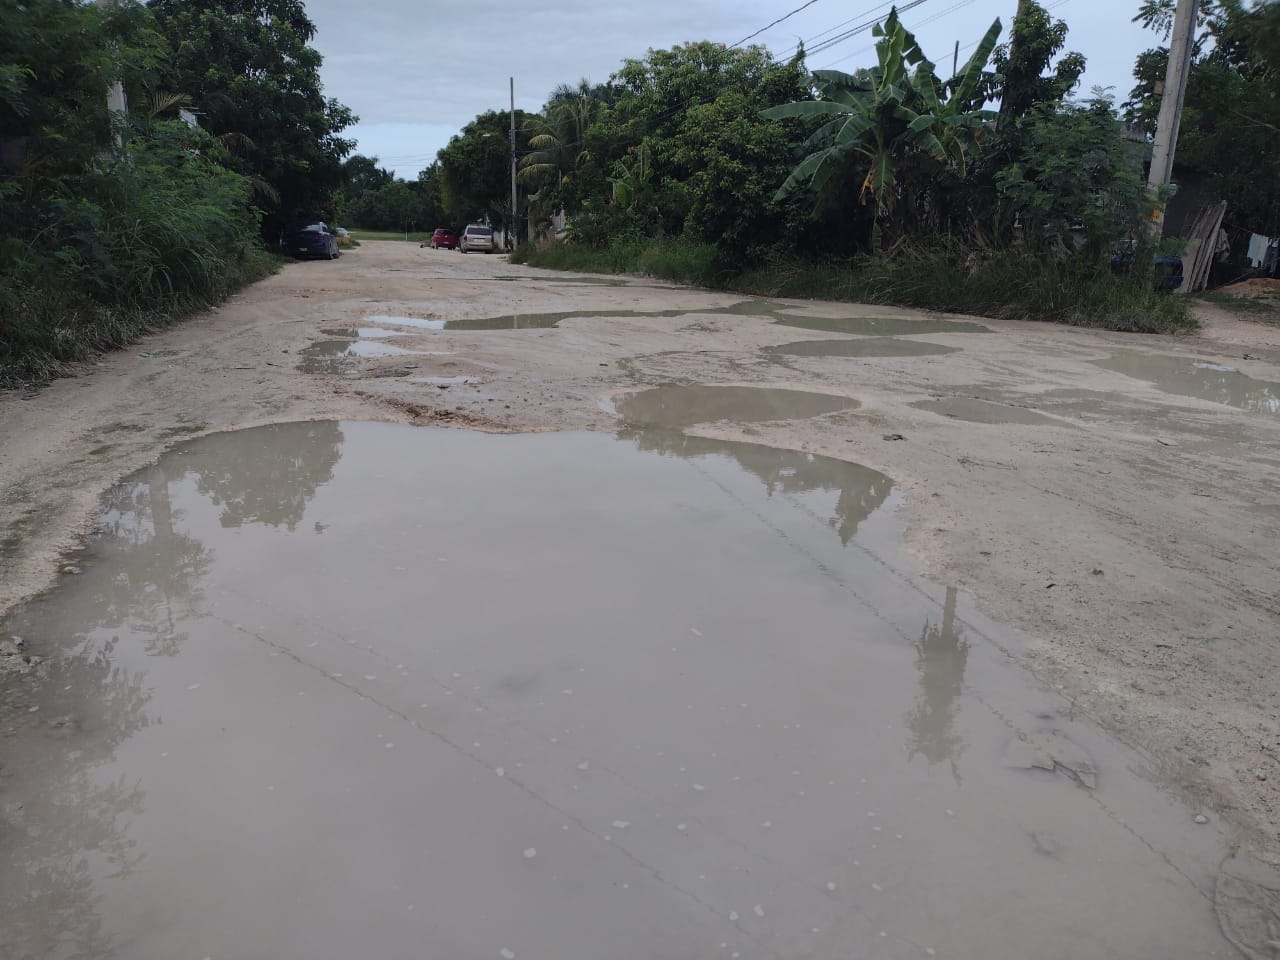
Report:
[[[855,410],[858,401],[829,393],[772,387],[655,387],[614,399],[618,416],[631,425],[684,428],[730,420],[759,424],[804,420]]]

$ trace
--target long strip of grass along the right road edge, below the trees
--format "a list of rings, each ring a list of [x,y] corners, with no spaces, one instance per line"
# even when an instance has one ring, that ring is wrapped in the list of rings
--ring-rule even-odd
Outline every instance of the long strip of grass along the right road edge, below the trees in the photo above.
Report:
[[[899,251],[890,260],[780,259],[733,270],[718,268],[714,246],[645,241],[604,250],[571,243],[539,251],[522,247],[513,260],[553,270],[659,276],[762,297],[883,303],[1132,333],[1189,333],[1198,328],[1187,297],[1144,289],[1102,268],[1085,269],[1074,261],[1019,251],[974,253],[937,246]]]

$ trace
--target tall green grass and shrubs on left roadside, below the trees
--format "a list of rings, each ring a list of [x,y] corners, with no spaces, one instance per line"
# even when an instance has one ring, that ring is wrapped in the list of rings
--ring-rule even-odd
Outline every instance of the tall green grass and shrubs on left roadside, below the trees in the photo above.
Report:
[[[0,385],[49,379],[225,298],[278,262],[242,177],[159,123],[79,177],[3,195]]]

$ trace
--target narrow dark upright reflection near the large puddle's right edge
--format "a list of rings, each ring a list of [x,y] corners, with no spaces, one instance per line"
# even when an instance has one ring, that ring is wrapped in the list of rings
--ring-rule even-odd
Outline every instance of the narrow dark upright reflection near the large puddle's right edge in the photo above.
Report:
[[[915,666],[920,672],[920,694],[906,717],[911,735],[908,750],[929,764],[947,763],[960,782],[956,762],[964,737],[956,730],[956,707],[964,691],[964,668],[969,644],[956,623],[956,588],[947,588],[941,625],[925,621],[915,641]]]

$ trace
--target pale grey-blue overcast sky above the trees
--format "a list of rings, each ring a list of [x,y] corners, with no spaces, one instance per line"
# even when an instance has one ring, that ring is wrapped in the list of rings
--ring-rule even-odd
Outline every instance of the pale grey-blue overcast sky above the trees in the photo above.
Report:
[[[324,55],[325,93],[349,106],[360,123],[344,136],[357,151],[378,156],[406,179],[428,166],[476,114],[506,110],[507,78],[516,78],[516,106],[536,111],[559,83],[608,79],[622,60],[641,58],[694,40],[735,44],[783,17],[804,0],[307,0],[316,24],[314,45]],[[910,0],[899,0],[899,8]],[[882,18],[890,4],[876,0],[814,0],[786,22],[764,31],[776,56],[788,56],[800,40],[815,51],[823,40]],[[1157,37],[1132,23],[1137,0],[1048,0],[1071,28],[1068,49],[1088,58],[1082,91],[1133,86],[1134,58]],[[925,54],[950,63],[972,51],[1000,17],[1007,36],[1016,0],[923,0],[901,14]],[[851,70],[874,59],[869,31],[828,50],[812,52],[810,69]]]

